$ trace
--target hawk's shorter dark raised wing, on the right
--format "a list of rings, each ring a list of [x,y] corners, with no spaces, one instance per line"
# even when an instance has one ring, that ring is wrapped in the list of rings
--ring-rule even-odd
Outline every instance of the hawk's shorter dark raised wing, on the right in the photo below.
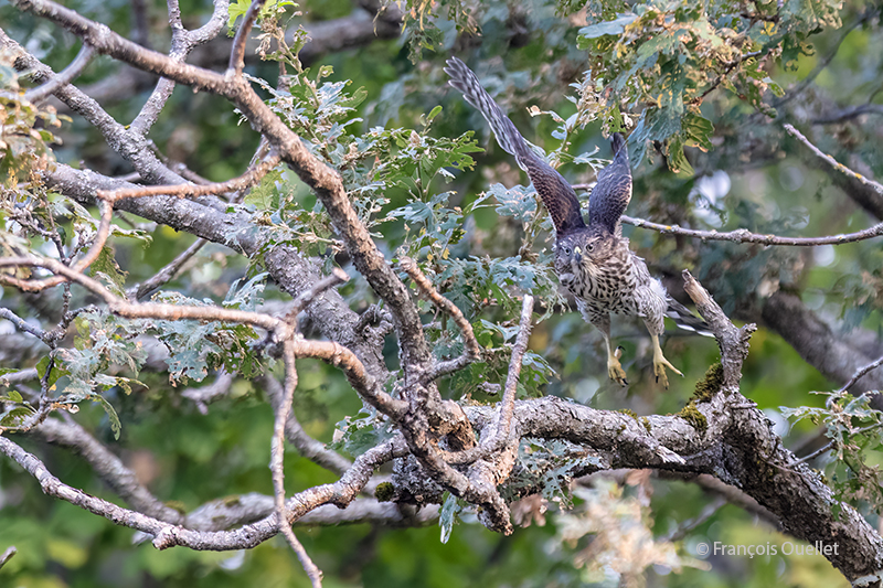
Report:
[[[588,197],[588,224],[616,233],[619,217],[631,200],[631,167],[623,136],[615,132],[610,137],[610,143],[614,148],[614,160],[598,172],[598,183]]]

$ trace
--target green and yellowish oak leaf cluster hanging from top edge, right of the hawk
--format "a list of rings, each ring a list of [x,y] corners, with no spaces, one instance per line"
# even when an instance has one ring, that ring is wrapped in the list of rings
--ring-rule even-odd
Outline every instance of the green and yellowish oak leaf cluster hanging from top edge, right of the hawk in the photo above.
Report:
[[[639,105],[624,118],[626,127],[637,119],[629,137],[634,161],[658,141],[671,171],[692,174],[683,150],[711,147],[714,128],[700,111],[709,93],[723,86],[775,116],[766,92],[781,96],[783,90],[765,71],[765,60],[778,58],[787,67],[808,51],[810,34],[840,26],[836,0],[790,0],[778,13],[772,2],[740,6],[649,0],[628,12],[589,11],[577,38],[593,64],[579,88],[581,111],[616,131],[623,105]]]

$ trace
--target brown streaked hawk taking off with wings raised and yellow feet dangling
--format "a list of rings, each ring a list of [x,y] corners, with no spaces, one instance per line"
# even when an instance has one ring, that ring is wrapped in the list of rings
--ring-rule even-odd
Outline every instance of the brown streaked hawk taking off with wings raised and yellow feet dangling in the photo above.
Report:
[[[628,384],[619,363],[621,348],[614,351],[610,343],[610,313],[637,316],[643,319],[653,343],[656,381],[668,388],[666,368],[683,374],[669,363],[659,345],[659,335],[664,330],[663,317],[669,316],[679,327],[698,332],[708,332],[709,327],[668,296],[662,284],[650,276],[643,259],[623,237],[619,217],[631,200],[631,168],[626,140],[618,132],[611,137],[614,159],[598,172],[597,184],[588,200],[586,225],[571,184],[531,148],[481,87],[476,74],[457,57],[448,60],[447,65],[448,84],[460,90],[466,101],[485,116],[497,142],[528,172],[549,210],[555,225],[555,272],[561,284],[573,293],[583,318],[604,335],[607,375],[620,385]]]

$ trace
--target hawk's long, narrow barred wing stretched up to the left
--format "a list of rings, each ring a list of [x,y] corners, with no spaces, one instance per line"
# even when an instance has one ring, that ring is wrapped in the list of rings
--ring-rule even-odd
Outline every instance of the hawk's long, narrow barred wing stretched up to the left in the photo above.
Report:
[[[579,212],[579,201],[571,184],[531,149],[500,106],[481,87],[476,74],[457,57],[448,60],[445,73],[450,76],[448,83],[462,92],[466,101],[475,106],[488,120],[503,151],[515,156],[519,167],[528,172],[536,193],[549,209],[558,236],[586,226]]]

